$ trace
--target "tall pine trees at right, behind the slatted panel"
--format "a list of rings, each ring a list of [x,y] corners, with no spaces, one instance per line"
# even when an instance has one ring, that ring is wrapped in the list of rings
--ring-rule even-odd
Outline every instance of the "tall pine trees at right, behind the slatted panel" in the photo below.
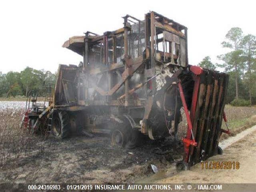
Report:
[[[222,47],[229,50],[217,56],[222,64],[213,64],[206,56],[198,65],[212,70],[222,68],[230,75],[227,103],[241,101],[256,104],[256,37],[244,35],[241,28],[231,28]]]

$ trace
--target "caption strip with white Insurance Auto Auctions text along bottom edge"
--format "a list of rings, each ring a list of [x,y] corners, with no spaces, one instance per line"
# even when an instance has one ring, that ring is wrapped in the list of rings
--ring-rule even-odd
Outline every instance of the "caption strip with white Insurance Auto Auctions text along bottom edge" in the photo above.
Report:
[[[0,192],[255,192],[256,184],[0,184]]]

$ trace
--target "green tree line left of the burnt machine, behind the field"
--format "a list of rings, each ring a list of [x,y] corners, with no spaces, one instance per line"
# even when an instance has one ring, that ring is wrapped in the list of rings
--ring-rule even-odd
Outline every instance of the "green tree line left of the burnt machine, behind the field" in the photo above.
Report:
[[[26,67],[21,72],[0,72],[0,97],[27,96],[30,90],[38,90],[55,83],[56,74],[50,71]]]

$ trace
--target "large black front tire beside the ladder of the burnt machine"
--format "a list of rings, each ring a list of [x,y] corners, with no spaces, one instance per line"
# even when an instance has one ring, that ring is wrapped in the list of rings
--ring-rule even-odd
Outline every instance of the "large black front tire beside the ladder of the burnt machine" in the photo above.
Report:
[[[70,136],[70,119],[66,111],[58,111],[53,115],[51,134],[55,138],[64,139]]]

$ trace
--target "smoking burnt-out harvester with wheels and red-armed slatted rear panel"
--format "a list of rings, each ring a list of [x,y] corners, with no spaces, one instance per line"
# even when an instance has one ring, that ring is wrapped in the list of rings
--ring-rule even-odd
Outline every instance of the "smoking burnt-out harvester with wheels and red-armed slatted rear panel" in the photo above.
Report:
[[[64,43],[83,62],[59,66],[51,132],[64,138],[72,128],[85,128],[134,147],[140,134],[176,136],[183,108],[188,130],[180,165],[216,154],[228,76],[188,65],[185,26],[156,12],[144,20],[123,18],[118,30]]]

